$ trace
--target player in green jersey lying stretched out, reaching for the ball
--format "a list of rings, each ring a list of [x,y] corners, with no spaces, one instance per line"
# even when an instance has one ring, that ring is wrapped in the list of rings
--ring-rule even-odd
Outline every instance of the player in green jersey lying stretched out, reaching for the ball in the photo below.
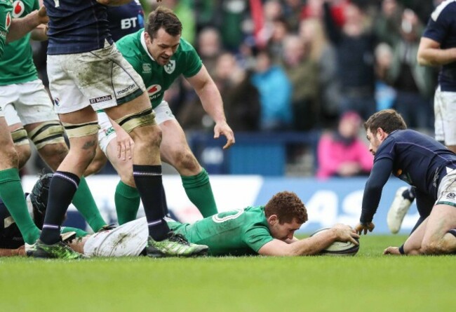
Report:
[[[354,229],[344,224],[337,224],[321,235],[297,240],[294,233],[307,221],[307,210],[300,198],[288,191],[274,195],[265,206],[221,212],[194,224],[166,221],[175,236],[208,245],[209,254],[214,256],[316,255],[336,240],[358,244]],[[89,257],[139,256],[145,255],[147,236],[147,221],[142,218],[116,229],[87,234],[70,246]],[[25,250],[16,254],[25,255]]]

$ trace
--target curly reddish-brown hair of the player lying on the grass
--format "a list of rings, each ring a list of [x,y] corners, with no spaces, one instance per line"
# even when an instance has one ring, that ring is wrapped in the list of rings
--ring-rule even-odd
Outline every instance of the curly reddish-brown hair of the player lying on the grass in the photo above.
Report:
[[[296,219],[298,223],[307,221],[307,209],[297,195],[290,191],[281,191],[264,206],[266,217],[276,215],[279,223],[290,223]]]

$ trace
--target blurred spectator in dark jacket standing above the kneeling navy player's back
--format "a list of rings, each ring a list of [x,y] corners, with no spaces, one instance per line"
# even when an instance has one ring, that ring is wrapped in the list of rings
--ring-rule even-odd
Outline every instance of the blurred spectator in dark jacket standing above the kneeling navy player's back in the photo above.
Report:
[[[401,113],[409,128],[431,130],[432,97],[436,87],[434,69],[420,66],[417,51],[424,29],[417,15],[410,9],[403,11],[401,39],[393,47],[393,57],[387,81],[397,92],[394,108]]]

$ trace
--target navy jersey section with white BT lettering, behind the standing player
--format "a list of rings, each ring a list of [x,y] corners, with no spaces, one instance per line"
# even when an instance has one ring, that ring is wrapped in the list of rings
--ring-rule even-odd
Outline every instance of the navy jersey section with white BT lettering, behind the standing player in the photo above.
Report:
[[[123,6],[108,6],[107,19],[109,32],[114,41],[144,27],[144,11],[139,0],[133,0]]]

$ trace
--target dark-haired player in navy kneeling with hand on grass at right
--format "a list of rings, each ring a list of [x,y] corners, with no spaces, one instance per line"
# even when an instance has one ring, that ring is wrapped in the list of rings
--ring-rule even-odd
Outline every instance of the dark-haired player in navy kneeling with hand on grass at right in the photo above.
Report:
[[[373,231],[373,216],[391,173],[415,188],[420,219],[401,247],[385,254],[439,255],[456,252],[456,154],[427,135],[408,130],[394,109],[364,123],[374,166],[364,189],[361,234]]]

